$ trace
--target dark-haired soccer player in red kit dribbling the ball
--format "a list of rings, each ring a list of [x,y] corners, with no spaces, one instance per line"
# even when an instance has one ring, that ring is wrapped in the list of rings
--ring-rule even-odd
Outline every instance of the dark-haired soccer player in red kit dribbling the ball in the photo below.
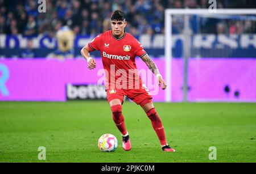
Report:
[[[96,36],[81,49],[81,54],[88,62],[88,69],[92,70],[96,67],[96,61],[90,57],[90,52],[94,50],[100,50],[101,52],[106,75],[107,100],[113,113],[115,125],[122,134],[122,147],[126,151],[131,150],[130,136],[126,130],[122,114],[123,98],[127,96],[138,105],[141,105],[148,118],[150,118],[162,150],[175,152],[167,144],[164,127],[152,103],[150,91],[138,75],[135,57],[141,57],[148,66],[148,69],[156,75],[159,87],[162,87],[163,90],[167,87],[166,82],[164,82],[158,68],[151,58],[148,57],[141,43],[135,37],[125,32],[127,24],[125,14],[119,10],[114,11],[110,22],[112,30]]]

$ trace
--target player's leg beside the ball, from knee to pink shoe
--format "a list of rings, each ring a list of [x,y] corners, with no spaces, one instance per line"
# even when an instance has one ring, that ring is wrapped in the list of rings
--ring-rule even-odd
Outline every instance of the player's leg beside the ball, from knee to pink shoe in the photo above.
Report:
[[[131,142],[128,131],[125,127],[125,118],[122,114],[122,102],[119,99],[113,99],[109,101],[109,105],[113,114],[113,120],[118,130],[122,134],[122,147],[124,150],[131,150]]]

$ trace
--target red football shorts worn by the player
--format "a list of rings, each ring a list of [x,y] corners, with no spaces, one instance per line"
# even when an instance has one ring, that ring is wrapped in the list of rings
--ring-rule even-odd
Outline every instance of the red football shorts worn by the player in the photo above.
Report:
[[[125,95],[141,106],[152,101],[152,96],[150,95],[150,91],[147,87],[142,89],[108,89],[106,92],[108,102],[113,99],[119,99],[123,104],[123,97]]]

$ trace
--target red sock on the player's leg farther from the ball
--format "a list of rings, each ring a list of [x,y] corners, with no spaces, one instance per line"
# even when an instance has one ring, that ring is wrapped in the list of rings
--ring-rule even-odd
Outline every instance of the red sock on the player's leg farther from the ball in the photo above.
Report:
[[[151,124],[156,132],[156,135],[158,135],[158,139],[160,141],[160,144],[167,145],[166,142],[166,134],[164,133],[164,128],[162,121],[160,117],[158,116],[158,113],[156,112],[155,108],[151,108],[149,111],[146,112],[148,118],[151,120]]]

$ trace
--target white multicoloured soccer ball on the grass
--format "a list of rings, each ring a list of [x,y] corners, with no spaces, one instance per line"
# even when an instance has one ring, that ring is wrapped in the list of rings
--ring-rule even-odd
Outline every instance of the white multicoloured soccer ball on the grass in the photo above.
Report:
[[[102,152],[113,152],[117,149],[118,141],[112,134],[104,134],[98,139],[98,148]]]

